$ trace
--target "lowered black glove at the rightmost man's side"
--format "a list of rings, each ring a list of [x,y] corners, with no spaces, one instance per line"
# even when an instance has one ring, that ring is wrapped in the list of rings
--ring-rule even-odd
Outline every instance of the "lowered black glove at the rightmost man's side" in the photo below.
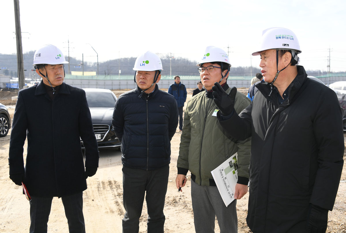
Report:
[[[316,205],[309,205],[306,222],[307,233],[325,233],[327,230],[328,209]]]

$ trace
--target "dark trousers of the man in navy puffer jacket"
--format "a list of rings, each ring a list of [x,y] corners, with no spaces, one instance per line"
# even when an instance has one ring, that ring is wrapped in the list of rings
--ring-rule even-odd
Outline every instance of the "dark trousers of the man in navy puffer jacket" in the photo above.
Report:
[[[167,192],[169,165],[146,171],[122,167],[123,202],[126,210],[122,219],[123,233],[138,233],[144,196],[148,208],[148,233],[163,233],[163,207]]]

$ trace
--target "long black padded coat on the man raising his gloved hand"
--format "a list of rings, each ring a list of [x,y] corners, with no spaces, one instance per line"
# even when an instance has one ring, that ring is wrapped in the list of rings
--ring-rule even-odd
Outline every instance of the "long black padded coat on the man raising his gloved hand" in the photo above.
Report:
[[[337,96],[297,69],[282,104],[275,89],[268,96],[269,83],[258,83],[239,116],[218,116],[233,137],[252,138],[246,220],[254,233],[306,232],[309,204],[332,210],[339,187],[344,134]]]

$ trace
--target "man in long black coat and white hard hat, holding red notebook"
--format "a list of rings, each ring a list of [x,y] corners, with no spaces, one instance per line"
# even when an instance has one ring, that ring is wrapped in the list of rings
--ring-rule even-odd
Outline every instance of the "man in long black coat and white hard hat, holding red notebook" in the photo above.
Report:
[[[42,81],[19,91],[13,116],[10,179],[16,185],[24,183],[31,198],[30,233],[47,232],[53,197],[61,197],[69,232],[85,232],[83,191],[86,178],[97,171],[99,152],[84,90],[63,82],[66,63],[56,46],[40,47],[34,65]]]

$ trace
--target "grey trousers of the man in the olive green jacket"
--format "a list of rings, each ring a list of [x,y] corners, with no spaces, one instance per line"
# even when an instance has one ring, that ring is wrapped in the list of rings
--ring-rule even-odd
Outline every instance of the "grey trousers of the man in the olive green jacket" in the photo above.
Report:
[[[215,216],[220,233],[238,232],[237,200],[226,207],[216,186],[200,186],[193,181],[191,181],[191,199],[196,232],[215,232]]]

